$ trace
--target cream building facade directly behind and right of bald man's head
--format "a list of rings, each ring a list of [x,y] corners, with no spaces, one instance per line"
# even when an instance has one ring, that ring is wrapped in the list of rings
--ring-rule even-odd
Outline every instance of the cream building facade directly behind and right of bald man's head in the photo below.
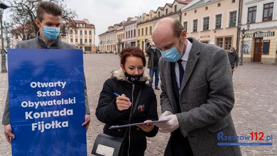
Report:
[[[239,0],[194,0],[182,9],[181,23],[187,37],[236,49]]]

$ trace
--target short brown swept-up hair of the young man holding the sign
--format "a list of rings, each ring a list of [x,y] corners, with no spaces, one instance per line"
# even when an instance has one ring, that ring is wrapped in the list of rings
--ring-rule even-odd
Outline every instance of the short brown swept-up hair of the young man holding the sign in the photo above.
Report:
[[[42,22],[44,13],[48,13],[53,16],[62,16],[62,9],[53,2],[43,1],[36,7],[36,19]]]

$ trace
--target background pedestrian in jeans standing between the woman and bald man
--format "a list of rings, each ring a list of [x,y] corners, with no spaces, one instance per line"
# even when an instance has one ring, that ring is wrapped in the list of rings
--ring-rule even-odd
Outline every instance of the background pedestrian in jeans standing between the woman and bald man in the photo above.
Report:
[[[155,89],[160,90],[158,85],[159,85],[159,75],[160,75],[159,60],[161,57],[161,52],[159,49],[156,49],[156,45],[154,44],[154,42],[150,43],[150,46],[146,48],[145,52],[149,56],[148,64],[147,64],[147,68],[149,68],[149,74],[151,77],[151,81],[149,82],[149,85],[152,86],[153,76],[155,74]]]

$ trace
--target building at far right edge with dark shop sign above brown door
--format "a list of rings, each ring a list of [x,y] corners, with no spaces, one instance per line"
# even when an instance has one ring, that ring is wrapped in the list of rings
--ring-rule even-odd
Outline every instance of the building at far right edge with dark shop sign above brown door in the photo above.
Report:
[[[277,2],[274,0],[245,0],[242,4],[240,49],[243,62],[277,63]],[[239,53],[239,54],[240,54]]]

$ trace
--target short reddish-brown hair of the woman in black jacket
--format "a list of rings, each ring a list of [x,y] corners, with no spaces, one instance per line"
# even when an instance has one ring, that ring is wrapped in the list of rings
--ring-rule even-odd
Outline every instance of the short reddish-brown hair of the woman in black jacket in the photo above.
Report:
[[[129,47],[125,48],[121,51],[120,53],[120,63],[124,66],[126,62],[126,58],[128,56],[135,56],[135,57],[140,57],[143,61],[143,66],[146,66],[146,59],[144,52],[138,48],[138,47]]]

